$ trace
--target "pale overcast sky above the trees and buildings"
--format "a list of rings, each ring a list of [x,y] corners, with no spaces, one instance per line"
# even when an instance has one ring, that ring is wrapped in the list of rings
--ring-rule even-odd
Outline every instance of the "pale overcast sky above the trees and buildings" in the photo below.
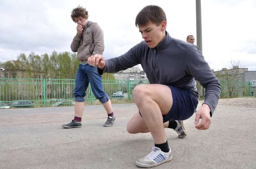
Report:
[[[186,41],[191,34],[196,44],[195,0],[0,0],[0,62],[20,53],[71,52],[76,24],[70,12],[78,5],[104,31],[105,58],[143,40],[135,17],[147,5],[163,8],[171,37]],[[239,61],[256,70],[256,0],[201,0],[201,6],[202,52],[211,69]]]

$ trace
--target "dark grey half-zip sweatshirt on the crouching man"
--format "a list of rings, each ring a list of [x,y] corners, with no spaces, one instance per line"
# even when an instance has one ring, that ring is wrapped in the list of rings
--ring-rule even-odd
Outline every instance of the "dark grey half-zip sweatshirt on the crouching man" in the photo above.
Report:
[[[191,89],[196,95],[195,79],[205,88],[204,104],[211,109],[211,115],[217,106],[221,85],[202,52],[194,44],[166,37],[154,49],[145,41],[132,47],[125,54],[105,60],[104,70],[99,74],[114,73],[141,64],[150,84],[171,85],[182,89]]]

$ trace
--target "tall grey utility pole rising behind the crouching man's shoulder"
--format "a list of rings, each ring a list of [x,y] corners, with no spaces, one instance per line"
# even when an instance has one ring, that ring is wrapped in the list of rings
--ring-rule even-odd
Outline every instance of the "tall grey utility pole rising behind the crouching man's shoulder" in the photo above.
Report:
[[[195,0],[196,10],[196,46],[202,52],[202,18],[201,18],[201,0]]]

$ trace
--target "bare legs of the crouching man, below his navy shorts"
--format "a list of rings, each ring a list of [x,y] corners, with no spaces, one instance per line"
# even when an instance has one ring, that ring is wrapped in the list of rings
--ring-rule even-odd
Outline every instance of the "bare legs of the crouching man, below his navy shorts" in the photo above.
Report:
[[[150,85],[138,85],[133,91],[135,104],[141,112],[143,117],[138,119],[143,127],[141,131],[145,132],[146,127],[150,131],[155,144],[162,144],[166,142],[166,135],[164,132],[164,125],[162,124],[162,114],[167,114],[172,106],[172,94],[170,88],[165,85],[150,84]],[[127,130],[128,132],[136,131],[135,128],[138,125],[135,124],[136,117],[140,116],[138,113],[129,121]]]

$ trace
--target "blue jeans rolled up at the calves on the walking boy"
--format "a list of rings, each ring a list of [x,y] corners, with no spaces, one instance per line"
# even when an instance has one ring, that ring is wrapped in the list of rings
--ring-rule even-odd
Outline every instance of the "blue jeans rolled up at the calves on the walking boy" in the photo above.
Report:
[[[91,85],[92,91],[96,99],[100,102],[106,103],[109,100],[108,95],[103,91],[102,88],[102,77],[98,74],[97,67],[87,64],[79,64],[75,75],[75,87],[74,87],[74,100],[83,102],[85,92]]]

